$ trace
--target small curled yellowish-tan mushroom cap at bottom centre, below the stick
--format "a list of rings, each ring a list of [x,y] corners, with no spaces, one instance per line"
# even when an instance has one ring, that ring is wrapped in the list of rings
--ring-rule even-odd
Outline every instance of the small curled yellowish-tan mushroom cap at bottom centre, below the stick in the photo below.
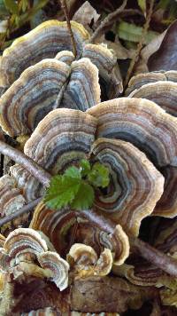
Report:
[[[104,249],[97,258],[96,251],[82,243],[73,244],[69,251],[68,259],[73,259],[74,269],[80,277],[88,277],[90,275],[104,276],[112,270],[112,252],[110,249]]]

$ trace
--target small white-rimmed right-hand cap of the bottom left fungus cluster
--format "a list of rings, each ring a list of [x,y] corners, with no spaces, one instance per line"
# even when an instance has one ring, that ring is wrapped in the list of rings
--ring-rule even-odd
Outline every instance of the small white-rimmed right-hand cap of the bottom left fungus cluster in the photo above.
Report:
[[[64,259],[57,253],[51,251],[39,254],[37,259],[42,268],[51,271],[53,274],[51,280],[55,282],[61,291],[67,288],[69,265]]]

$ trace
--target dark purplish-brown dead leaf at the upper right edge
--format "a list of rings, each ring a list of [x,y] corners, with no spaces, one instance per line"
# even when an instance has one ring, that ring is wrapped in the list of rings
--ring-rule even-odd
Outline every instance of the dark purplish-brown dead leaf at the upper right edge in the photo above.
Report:
[[[177,20],[167,29],[158,49],[150,56],[148,67],[154,70],[177,70]]]

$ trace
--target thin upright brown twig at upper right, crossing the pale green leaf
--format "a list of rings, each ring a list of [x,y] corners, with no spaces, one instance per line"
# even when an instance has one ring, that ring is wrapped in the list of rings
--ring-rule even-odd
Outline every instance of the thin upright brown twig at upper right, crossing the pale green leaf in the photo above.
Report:
[[[142,46],[143,46],[143,43],[144,43],[144,37],[146,36],[148,28],[150,27],[150,19],[151,19],[151,15],[152,15],[153,6],[154,6],[154,0],[151,0],[150,1],[150,9],[149,9],[148,14],[147,14],[147,19],[146,19],[144,27],[142,29],[142,37],[140,39],[140,42],[137,45],[137,48],[136,48],[136,51],[135,51],[135,56],[131,60],[130,66],[129,66],[128,70],[127,70],[127,76],[126,76],[126,80],[125,80],[125,83],[124,83],[125,89],[127,88],[127,83],[129,82],[129,79],[130,79],[130,77],[131,77],[131,75],[132,75],[132,73],[133,73],[133,71],[135,69],[135,65],[136,65],[136,63],[137,63],[137,61],[139,59],[140,52],[142,51]]]

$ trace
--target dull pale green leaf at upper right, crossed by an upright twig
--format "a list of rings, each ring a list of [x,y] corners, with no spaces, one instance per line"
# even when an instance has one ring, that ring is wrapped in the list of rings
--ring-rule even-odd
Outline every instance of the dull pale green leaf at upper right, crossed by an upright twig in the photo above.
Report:
[[[157,32],[148,31],[144,36],[144,43],[150,43],[158,35]],[[122,21],[118,25],[118,36],[125,41],[139,43],[142,38],[142,28],[133,23]]]

